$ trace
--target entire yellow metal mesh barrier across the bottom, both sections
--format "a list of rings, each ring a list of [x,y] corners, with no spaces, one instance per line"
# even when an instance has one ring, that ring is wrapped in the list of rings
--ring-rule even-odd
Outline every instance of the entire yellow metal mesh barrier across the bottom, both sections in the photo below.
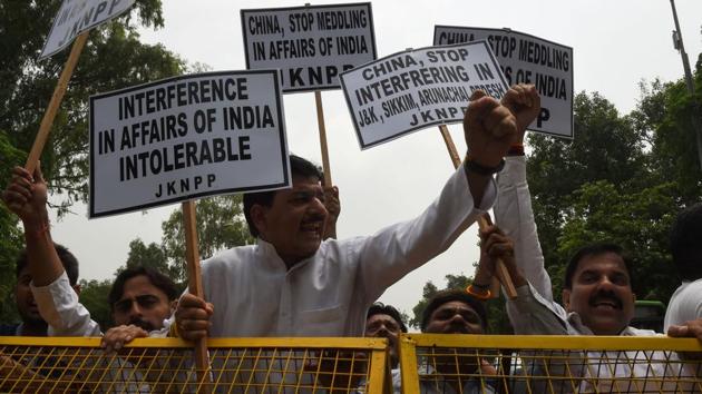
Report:
[[[0,393],[388,393],[376,338],[216,338],[196,371],[191,345],[0,337]],[[694,338],[407,334],[403,393],[702,393]]]

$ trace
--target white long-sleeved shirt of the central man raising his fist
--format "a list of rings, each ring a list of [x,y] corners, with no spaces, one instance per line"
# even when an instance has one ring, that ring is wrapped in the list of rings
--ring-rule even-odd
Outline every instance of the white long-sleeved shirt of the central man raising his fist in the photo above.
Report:
[[[372,236],[329,239],[287,269],[259,239],[203,262],[205,299],[214,305],[213,337],[362,336],[369,306],[390,285],[446,250],[493,205],[474,207],[462,166],[417,218]]]

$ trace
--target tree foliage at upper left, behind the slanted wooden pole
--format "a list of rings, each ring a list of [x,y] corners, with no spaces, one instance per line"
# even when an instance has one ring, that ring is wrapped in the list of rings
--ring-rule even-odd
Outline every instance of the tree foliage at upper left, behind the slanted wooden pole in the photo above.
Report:
[[[10,142],[29,151],[69,50],[43,61],[37,57],[60,1],[12,1],[0,6],[0,130]],[[138,1],[134,14],[144,26],[163,26],[160,1]],[[51,193],[66,196],[65,213],[74,200],[87,199],[88,97],[118,88],[179,75],[185,63],[160,45],[139,41],[130,16],[90,32],[42,154],[42,169]],[[10,161],[11,165],[21,165]],[[7,171],[11,166],[3,166]]]

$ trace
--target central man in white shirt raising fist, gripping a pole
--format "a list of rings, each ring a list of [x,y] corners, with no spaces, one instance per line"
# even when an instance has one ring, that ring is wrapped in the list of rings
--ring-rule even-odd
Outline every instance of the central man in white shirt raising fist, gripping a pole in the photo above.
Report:
[[[508,95],[515,95],[513,91]],[[369,306],[402,276],[446,250],[495,197],[498,170],[523,104],[471,101],[465,119],[469,158],[416,218],[372,236],[322,242],[326,211],[319,174],[293,173],[293,188],[248,207],[256,245],[202,265],[205,299],[184,295],[179,336],[361,336]],[[407,175],[411,177],[411,175]],[[256,235],[256,234],[254,234]]]

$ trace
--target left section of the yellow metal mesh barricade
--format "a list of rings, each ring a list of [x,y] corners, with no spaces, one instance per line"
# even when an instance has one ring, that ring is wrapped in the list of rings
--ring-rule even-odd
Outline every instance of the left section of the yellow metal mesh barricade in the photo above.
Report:
[[[0,393],[382,393],[387,341],[214,338],[209,370],[192,345],[139,338],[106,354],[100,338],[0,337]]]

